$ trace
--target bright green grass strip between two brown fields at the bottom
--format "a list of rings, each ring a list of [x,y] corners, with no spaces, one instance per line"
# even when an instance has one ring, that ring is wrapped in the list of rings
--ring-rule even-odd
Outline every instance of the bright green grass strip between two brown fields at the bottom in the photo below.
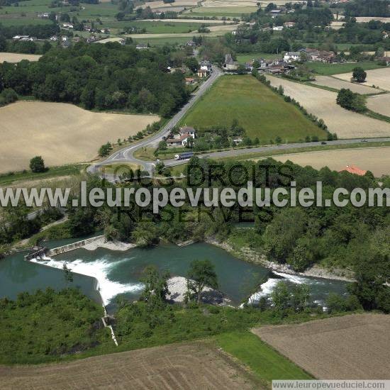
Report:
[[[310,374],[248,331],[223,333],[216,340],[225,352],[250,367],[267,384],[272,379],[313,379]]]

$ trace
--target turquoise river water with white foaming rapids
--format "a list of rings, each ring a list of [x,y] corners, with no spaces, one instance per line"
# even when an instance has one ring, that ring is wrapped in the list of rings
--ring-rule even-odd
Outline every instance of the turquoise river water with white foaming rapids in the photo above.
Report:
[[[74,240],[52,241],[48,247],[66,245]],[[124,294],[135,300],[140,296],[143,285],[139,282],[143,269],[154,264],[172,275],[186,276],[189,264],[194,259],[209,259],[216,267],[221,291],[234,304],[239,304],[262,285],[262,292],[255,294],[269,296],[280,279],[289,284],[306,283],[311,288],[311,298],[324,303],[330,292],[346,293],[346,283],[321,278],[298,277],[288,274],[273,273],[257,264],[236,259],[225,250],[214,245],[196,243],[186,247],[176,245],[159,245],[151,249],[133,248],[126,252],[111,251],[99,248],[94,251],[74,250],[55,259],[46,261],[25,262],[24,253],[6,257],[0,261],[0,297],[15,299],[21,291],[33,292],[51,286],[62,289],[65,286],[79,286],[92,299],[100,302],[101,298],[108,311],[115,309],[115,297]],[[74,272],[74,282],[65,282],[62,266]]]

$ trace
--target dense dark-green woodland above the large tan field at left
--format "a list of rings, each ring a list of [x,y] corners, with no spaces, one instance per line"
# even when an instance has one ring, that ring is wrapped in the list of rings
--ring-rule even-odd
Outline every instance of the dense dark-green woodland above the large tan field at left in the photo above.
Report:
[[[0,91],[13,88],[44,101],[92,109],[170,116],[188,98],[184,76],[166,72],[169,57],[118,43],[53,48],[39,62],[0,65]]]

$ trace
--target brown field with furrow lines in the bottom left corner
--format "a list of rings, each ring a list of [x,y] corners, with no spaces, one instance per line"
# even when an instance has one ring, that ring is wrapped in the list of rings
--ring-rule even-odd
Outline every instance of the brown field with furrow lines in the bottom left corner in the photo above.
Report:
[[[259,389],[238,364],[203,342],[39,366],[0,366],[1,389]]]

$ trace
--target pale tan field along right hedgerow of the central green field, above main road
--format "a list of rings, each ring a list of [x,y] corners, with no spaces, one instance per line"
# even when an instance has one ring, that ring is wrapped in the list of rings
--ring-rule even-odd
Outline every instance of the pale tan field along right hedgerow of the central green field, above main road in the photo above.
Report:
[[[271,81],[274,87],[282,85],[285,95],[299,101],[309,113],[322,118],[330,133],[336,133],[339,138],[369,138],[390,135],[390,123],[347,111],[338,106],[336,104],[336,92],[310,87],[309,85],[274,76],[267,76],[267,79]]]

